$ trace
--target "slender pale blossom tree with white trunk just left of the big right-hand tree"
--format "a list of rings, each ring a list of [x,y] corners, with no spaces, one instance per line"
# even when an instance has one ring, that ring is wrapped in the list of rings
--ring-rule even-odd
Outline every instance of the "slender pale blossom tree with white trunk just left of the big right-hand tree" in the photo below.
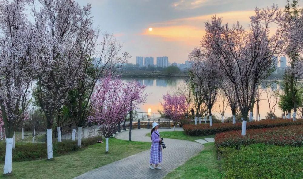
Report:
[[[195,48],[189,54],[189,59],[192,62],[191,71],[197,84],[195,90],[201,94],[203,103],[208,107],[209,122],[212,126],[211,110],[218,97],[221,76],[215,65],[205,57],[199,48]]]

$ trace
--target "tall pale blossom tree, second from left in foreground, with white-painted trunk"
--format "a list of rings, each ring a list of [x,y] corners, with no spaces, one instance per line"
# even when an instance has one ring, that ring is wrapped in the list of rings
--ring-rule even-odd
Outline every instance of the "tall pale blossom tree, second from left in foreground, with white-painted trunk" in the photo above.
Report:
[[[85,60],[95,45],[91,5],[80,8],[73,0],[32,0],[32,14],[39,31],[35,96],[47,119],[48,159],[53,158],[52,125],[67,93],[83,76]],[[37,6],[41,6],[38,10]],[[57,126],[58,134],[60,126]]]

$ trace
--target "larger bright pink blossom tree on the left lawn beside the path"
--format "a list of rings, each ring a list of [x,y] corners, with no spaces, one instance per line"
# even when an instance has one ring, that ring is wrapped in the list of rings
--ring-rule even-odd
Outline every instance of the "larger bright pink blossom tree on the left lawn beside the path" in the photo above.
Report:
[[[88,120],[97,122],[106,138],[106,152],[108,139],[115,128],[126,117],[129,111],[136,109],[138,104],[144,103],[147,95],[143,94],[145,86],[136,81],[123,82],[120,78],[105,77],[96,86],[93,94],[92,115]]]

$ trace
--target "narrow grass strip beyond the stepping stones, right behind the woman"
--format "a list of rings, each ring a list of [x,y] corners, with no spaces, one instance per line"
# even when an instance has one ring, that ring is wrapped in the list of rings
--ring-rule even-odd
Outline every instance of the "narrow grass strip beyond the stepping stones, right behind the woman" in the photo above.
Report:
[[[151,136],[151,133],[146,134],[146,136]],[[215,137],[215,135],[207,135],[207,136],[188,136],[184,133],[184,131],[167,131],[167,132],[160,132],[160,136],[162,138],[172,138],[172,139],[180,139],[180,140],[188,140],[188,141],[195,141],[197,139],[204,139]]]

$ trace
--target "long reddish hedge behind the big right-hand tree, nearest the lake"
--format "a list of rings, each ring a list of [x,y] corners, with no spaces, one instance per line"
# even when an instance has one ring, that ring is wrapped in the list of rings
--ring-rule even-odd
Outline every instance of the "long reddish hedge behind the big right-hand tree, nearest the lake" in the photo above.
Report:
[[[272,128],[289,125],[302,125],[303,119],[297,119],[293,122],[292,119],[267,119],[259,122],[247,122],[246,129],[261,129],[261,128]],[[209,124],[186,124],[183,126],[185,133],[189,136],[198,135],[213,135],[226,131],[235,131],[242,129],[242,123],[218,123],[210,126]]]

